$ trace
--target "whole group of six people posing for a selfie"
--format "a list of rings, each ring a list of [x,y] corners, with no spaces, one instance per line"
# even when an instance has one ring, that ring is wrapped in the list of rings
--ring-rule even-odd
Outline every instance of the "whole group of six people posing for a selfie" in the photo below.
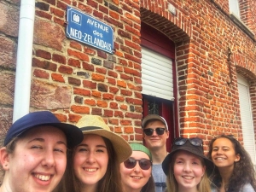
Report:
[[[149,114],[142,127],[147,147],[127,143],[97,115],[69,125],[48,111],[28,113],[0,149],[0,192],[256,192],[236,138],[213,138],[205,156],[201,138],[179,137],[167,153],[166,120]]]

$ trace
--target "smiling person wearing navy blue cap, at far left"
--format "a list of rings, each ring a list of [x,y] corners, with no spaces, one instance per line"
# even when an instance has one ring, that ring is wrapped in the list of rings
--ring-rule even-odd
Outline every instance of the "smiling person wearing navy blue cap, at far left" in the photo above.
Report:
[[[75,125],[61,123],[53,113],[28,113],[9,128],[0,149],[4,177],[1,192],[50,192],[67,166],[67,148],[83,140]]]

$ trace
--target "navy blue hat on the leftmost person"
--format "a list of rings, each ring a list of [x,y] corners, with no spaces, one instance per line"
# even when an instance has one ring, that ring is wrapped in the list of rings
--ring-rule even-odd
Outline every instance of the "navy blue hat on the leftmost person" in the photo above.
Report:
[[[52,125],[63,131],[67,137],[67,148],[73,148],[83,141],[83,133],[77,126],[61,123],[61,121],[49,111],[38,111],[27,113],[11,125],[4,139],[4,146],[14,137],[19,137],[25,131],[40,125]]]

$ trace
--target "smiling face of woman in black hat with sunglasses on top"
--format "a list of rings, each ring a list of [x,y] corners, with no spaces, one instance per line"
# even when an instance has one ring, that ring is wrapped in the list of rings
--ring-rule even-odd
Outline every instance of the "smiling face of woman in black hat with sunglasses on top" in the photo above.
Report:
[[[173,174],[177,181],[178,191],[191,189],[197,191],[197,185],[206,171],[201,158],[183,150],[178,151],[173,158]]]

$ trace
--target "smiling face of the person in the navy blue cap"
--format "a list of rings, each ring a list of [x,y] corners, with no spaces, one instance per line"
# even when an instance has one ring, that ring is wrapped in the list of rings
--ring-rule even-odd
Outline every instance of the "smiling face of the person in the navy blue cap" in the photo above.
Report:
[[[6,172],[2,187],[9,191],[50,192],[65,172],[67,139],[53,126],[26,131],[15,143],[12,154],[4,150],[1,149],[1,161]]]

